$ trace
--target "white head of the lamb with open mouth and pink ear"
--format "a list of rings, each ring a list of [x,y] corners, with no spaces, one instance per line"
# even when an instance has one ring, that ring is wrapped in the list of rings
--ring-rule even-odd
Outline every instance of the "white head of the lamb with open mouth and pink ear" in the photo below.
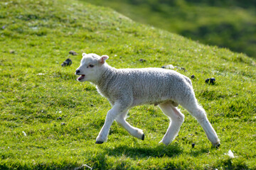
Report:
[[[80,67],[75,70],[75,74],[80,75],[80,77],[78,77],[78,81],[95,82],[97,79],[100,79],[102,67],[107,59],[107,55],[102,55],[102,57],[100,57],[95,54],[82,53]]]

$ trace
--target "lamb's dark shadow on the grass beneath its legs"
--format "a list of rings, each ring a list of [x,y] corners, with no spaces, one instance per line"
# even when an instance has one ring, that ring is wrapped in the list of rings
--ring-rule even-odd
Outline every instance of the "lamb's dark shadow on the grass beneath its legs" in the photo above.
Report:
[[[114,148],[107,148],[106,152],[110,156],[125,155],[132,159],[144,157],[176,157],[183,152],[183,149],[178,145],[159,145],[157,147],[143,146],[143,147],[129,147],[122,145]]]

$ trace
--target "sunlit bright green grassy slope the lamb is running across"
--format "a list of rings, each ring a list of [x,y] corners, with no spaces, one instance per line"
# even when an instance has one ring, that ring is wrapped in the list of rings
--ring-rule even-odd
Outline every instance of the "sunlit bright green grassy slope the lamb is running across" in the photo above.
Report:
[[[256,169],[255,60],[76,0],[4,0],[0,18],[0,169]],[[169,120],[154,106],[132,108],[127,118],[144,141],[114,123],[108,142],[95,145],[110,104],[75,81],[82,52],[109,55],[117,68],[173,64],[194,74],[220,148],[183,108],[176,140],[158,144]],[[73,64],[61,67],[68,57]]]

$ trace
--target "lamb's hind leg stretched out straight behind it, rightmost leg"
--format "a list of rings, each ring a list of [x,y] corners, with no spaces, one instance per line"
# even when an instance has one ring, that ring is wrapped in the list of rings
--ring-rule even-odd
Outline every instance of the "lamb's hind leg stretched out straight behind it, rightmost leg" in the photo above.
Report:
[[[218,136],[212,125],[210,125],[210,122],[206,116],[206,111],[204,111],[204,109],[198,105],[197,101],[194,100],[190,104],[183,107],[186,108],[186,110],[188,110],[188,112],[198,120],[198,123],[200,123],[200,125],[203,127],[208,140],[210,140],[213,146],[220,147],[220,140],[218,139]]]

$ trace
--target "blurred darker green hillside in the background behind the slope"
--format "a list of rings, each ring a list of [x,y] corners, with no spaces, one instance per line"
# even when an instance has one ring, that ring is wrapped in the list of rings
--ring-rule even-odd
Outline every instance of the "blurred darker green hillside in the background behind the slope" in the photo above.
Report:
[[[208,45],[256,57],[255,1],[82,0]]]

